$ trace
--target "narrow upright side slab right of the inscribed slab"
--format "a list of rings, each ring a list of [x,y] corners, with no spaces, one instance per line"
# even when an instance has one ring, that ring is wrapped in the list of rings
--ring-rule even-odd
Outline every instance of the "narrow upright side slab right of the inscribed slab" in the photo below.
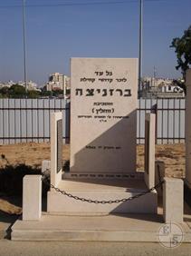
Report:
[[[146,113],[145,116],[145,182],[148,189],[155,185],[155,126],[156,114]]]

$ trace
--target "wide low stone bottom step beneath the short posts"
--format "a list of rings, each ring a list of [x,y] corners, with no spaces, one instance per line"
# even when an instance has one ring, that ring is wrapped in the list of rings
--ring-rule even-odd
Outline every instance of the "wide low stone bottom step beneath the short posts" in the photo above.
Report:
[[[43,214],[41,221],[18,220],[13,241],[150,241],[158,242],[163,225],[159,214],[58,216]],[[191,242],[191,227],[184,222],[183,242]]]

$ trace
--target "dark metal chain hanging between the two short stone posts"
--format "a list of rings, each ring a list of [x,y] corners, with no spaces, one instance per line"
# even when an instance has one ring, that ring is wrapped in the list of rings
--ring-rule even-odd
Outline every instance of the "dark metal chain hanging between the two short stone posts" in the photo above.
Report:
[[[44,182],[45,180],[43,180]],[[48,184],[47,181],[45,181],[46,184]],[[81,202],[90,202],[90,203],[101,203],[101,204],[106,204],[106,203],[119,203],[119,202],[127,202],[127,201],[130,201],[130,200],[134,200],[138,197],[141,197],[145,194],[147,194],[148,192],[152,192],[154,190],[156,190],[158,187],[160,187],[162,185],[164,181],[160,181],[158,182],[158,184],[154,187],[152,187],[151,189],[147,190],[146,192],[141,192],[141,193],[138,193],[137,195],[134,195],[134,196],[130,196],[129,198],[122,198],[122,199],[117,199],[117,200],[109,200],[109,201],[99,201],[99,200],[92,200],[92,199],[87,199],[87,198],[83,198],[83,197],[79,197],[79,196],[76,196],[76,195],[73,195],[72,193],[69,193],[69,192],[65,192],[63,190],[60,190],[59,188],[53,186],[53,184],[50,184],[50,187],[53,188],[56,192],[60,192],[62,193],[63,195],[65,196],[68,196],[72,199],[75,199],[75,200],[78,200],[78,201],[81,201]],[[48,184],[49,185],[49,184]]]

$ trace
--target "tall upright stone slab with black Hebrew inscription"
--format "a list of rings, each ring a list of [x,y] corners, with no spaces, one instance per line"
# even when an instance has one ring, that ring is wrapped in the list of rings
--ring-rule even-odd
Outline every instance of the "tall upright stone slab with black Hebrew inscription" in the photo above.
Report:
[[[71,77],[71,172],[135,172],[138,60],[72,58]]]

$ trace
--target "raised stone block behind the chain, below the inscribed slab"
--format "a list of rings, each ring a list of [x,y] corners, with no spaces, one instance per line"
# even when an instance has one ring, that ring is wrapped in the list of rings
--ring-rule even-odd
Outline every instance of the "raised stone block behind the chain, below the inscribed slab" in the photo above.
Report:
[[[72,195],[98,201],[129,198],[148,191],[143,180],[137,179],[68,179],[62,180],[58,188]],[[109,213],[157,213],[158,195],[148,192],[136,200],[112,204],[76,201],[53,189],[48,192],[47,211],[66,215],[102,215]]]

